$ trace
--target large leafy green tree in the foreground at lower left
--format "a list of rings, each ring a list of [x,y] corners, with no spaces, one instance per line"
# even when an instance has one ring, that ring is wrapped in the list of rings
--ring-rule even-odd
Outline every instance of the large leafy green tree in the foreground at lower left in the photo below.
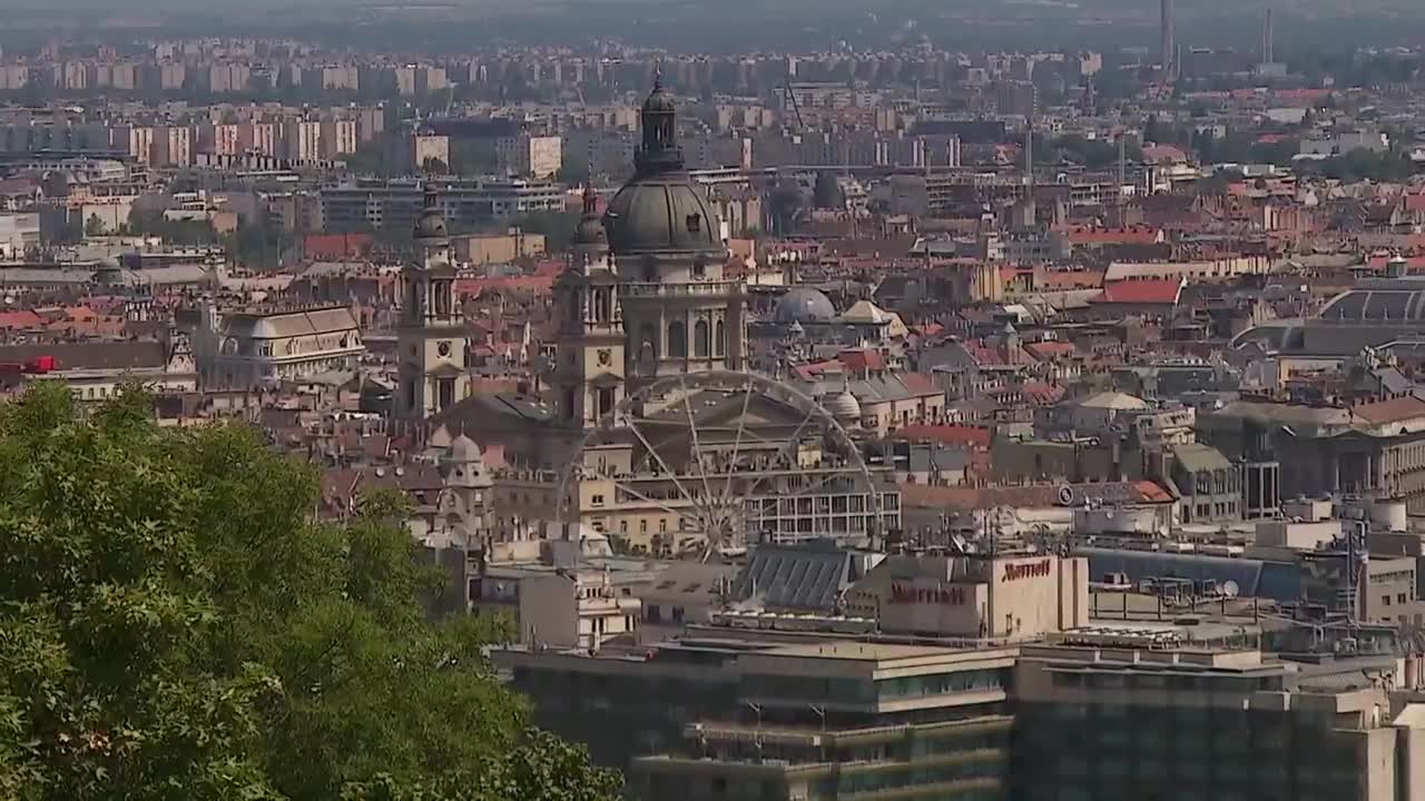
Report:
[[[312,519],[312,472],[251,429],[158,429],[130,388],[0,408],[0,798],[611,801],[532,730],[372,497]]]

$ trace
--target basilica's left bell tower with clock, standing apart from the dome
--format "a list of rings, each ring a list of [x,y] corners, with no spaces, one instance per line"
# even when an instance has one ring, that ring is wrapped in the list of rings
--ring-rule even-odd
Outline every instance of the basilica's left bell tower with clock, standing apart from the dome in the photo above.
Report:
[[[455,298],[456,267],[445,217],[428,187],[416,218],[415,261],[402,271],[396,415],[422,420],[470,393],[465,318]]]

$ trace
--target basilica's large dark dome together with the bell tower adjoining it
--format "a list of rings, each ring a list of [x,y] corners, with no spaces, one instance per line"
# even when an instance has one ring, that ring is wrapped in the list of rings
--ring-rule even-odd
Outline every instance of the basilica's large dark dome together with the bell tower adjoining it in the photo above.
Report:
[[[640,113],[633,178],[600,217],[586,192],[567,272],[551,385],[561,423],[590,428],[651,382],[745,363],[747,311],[707,194],[688,175],[677,107],[660,83]]]

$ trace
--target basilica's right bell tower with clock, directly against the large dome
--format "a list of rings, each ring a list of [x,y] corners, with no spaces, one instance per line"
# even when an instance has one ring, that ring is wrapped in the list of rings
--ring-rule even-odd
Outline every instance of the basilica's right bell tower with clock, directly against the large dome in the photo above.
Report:
[[[590,428],[624,398],[624,328],[618,271],[594,192],[584,190],[569,267],[554,284],[559,336],[553,385],[559,419]]]

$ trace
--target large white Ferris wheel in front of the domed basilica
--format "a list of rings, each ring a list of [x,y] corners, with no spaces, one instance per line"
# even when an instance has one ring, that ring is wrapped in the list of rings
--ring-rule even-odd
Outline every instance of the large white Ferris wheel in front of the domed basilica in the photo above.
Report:
[[[560,475],[556,519],[703,559],[750,540],[874,544],[886,480],[848,425],[761,373],[656,379],[586,433]]]

